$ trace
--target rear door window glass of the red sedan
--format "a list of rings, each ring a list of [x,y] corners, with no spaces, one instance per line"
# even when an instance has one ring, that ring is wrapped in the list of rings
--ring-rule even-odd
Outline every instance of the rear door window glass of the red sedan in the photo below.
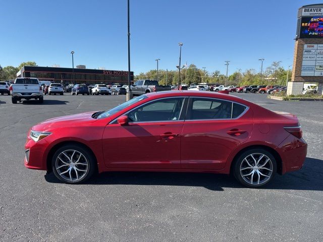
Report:
[[[231,119],[239,117],[246,106],[211,98],[192,98],[187,119]]]

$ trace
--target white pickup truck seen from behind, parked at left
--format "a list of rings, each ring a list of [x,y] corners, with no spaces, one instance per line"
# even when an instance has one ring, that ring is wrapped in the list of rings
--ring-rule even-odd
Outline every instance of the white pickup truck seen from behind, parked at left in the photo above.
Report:
[[[12,103],[17,103],[21,99],[38,99],[40,103],[44,101],[42,87],[37,78],[16,78],[15,83],[10,86],[10,94]]]

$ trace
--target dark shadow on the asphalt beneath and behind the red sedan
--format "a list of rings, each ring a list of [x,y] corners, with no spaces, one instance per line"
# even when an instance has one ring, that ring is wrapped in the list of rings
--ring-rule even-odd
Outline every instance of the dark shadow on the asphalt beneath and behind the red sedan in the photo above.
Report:
[[[45,175],[49,183],[61,183],[53,173]],[[244,188],[234,177],[212,173],[182,172],[103,172],[85,184],[88,185],[144,185],[204,187],[211,191],[224,188]],[[323,191],[323,160],[306,158],[302,170],[276,175],[264,189]]]

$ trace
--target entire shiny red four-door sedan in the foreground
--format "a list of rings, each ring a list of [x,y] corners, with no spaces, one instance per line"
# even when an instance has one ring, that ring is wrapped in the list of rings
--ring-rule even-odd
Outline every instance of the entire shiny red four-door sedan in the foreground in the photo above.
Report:
[[[25,151],[27,168],[70,184],[131,170],[233,173],[256,188],[301,169],[307,144],[293,114],[226,94],[167,91],[48,119],[30,129]]]

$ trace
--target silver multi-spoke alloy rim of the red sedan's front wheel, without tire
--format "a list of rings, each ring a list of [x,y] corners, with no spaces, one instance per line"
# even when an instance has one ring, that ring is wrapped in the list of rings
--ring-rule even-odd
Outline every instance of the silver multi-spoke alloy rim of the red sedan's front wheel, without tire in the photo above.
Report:
[[[67,181],[79,181],[88,173],[89,162],[77,150],[65,150],[56,159],[57,173]]]

